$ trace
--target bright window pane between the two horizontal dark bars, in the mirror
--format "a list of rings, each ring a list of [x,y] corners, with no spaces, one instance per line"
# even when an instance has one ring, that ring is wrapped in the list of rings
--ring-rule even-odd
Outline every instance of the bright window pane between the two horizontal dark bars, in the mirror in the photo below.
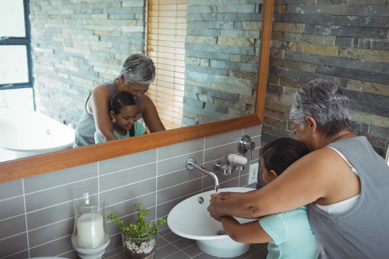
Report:
[[[0,84],[28,83],[25,45],[0,45]]]

